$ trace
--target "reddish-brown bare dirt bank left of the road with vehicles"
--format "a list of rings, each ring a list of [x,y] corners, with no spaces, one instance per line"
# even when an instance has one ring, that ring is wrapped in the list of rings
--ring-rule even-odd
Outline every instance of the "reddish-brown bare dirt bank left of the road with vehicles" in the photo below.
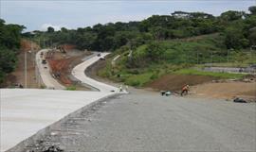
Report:
[[[10,87],[15,84],[25,86],[25,53],[27,53],[27,88],[38,88],[40,85],[35,74],[35,55],[40,46],[28,40],[21,41],[21,49],[17,56],[17,66],[14,72],[7,76],[4,86]]]

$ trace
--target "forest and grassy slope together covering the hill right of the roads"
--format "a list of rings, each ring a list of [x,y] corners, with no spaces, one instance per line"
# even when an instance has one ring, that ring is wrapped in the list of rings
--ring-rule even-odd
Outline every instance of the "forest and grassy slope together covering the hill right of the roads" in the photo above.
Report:
[[[175,11],[170,15],[153,15],[141,22],[109,23],[34,31],[24,36],[43,46],[70,43],[79,49],[111,51],[107,66],[99,72],[113,80],[144,86],[159,76],[184,74],[218,76],[241,75],[205,73],[188,70],[209,63],[247,66],[256,63],[250,48],[256,45],[255,6],[244,11],[229,10],[220,16],[204,12]],[[43,41],[44,40],[44,41]],[[254,53],[255,54],[255,53]],[[112,65],[112,59],[121,55]]]

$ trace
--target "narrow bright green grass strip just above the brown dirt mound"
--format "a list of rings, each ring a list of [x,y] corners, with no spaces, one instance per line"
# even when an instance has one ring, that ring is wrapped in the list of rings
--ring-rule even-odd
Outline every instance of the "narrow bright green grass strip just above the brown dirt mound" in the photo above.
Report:
[[[198,75],[198,76],[213,76],[218,78],[242,78],[246,76],[245,74],[230,74],[230,73],[213,73],[213,72],[205,72],[205,71],[198,71],[194,69],[182,69],[174,72],[174,74],[178,75]]]

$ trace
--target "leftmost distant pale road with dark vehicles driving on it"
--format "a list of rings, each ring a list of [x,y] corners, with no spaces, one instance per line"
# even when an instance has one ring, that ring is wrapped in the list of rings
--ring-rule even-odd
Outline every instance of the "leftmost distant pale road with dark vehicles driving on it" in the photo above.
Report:
[[[42,59],[44,59],[45,57],[41,58],[41,53],[44,53],[44,56],[46,56],[47,51],[48,49],[43,49],[36,54],[36,64],[39,74],[47,89],[64,90],[65,87],[50,75],[50,67],[48,63],[42,63]]]

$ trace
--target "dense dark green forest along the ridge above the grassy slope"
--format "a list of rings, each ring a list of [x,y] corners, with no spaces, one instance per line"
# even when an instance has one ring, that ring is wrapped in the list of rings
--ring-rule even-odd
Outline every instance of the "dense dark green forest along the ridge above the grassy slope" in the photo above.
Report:
[[[123,45],[136,48],[152,41],[220,32],[227,48],[241,49],[249,47],[256,39],[256,7],[248,9],[248,14],[229,10],[217,17],[204,12],[175,11],[170,15],[153,15],[141,22],[98,24],[77,30],[63,27],[60,31],[48,27],[46,32],[34,31],[35,35],[24,35],[35,39],[44,37],[47,45],[70,43],[80,49],[114,51]]]

